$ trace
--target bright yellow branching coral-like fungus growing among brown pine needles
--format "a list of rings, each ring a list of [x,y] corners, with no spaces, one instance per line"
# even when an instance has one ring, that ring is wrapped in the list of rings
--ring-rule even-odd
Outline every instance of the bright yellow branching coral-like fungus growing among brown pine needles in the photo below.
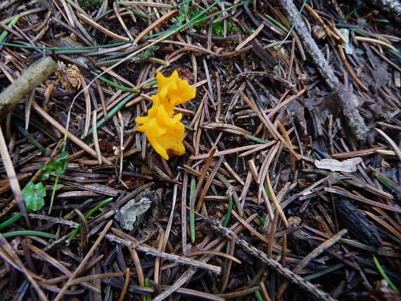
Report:
[[[151,96],[153,105],[148,115],[135,119],[136,123],[141,124],[136,129],[145,132],[155,151],[168,160],[167,151],[170,155],[185,153],[182,143],[184,124],[180,122],[182,114],[174,115],[174,106],[194,98],[196,89],[191,88],[186,80],[180,79],[177,71],[172,72],[170,77],[158,72],[156,79],[158,94]]]

